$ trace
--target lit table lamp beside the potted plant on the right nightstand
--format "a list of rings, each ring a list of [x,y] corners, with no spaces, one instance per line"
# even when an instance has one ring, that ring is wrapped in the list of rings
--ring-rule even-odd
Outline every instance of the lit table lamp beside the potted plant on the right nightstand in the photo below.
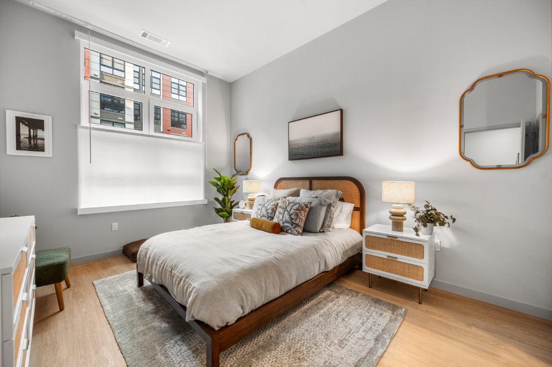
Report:
[[[384,181],[381,183],[381,201],[394,203],[389,210],[391,231],[402,232],[406,210],[401,204],[414,203],[415,182]]]

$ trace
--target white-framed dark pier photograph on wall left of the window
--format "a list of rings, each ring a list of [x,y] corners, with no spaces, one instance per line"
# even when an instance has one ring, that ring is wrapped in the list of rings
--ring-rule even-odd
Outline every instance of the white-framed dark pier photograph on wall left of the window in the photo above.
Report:
[[[52,157],[52,116],[6,110],[6,153]]]

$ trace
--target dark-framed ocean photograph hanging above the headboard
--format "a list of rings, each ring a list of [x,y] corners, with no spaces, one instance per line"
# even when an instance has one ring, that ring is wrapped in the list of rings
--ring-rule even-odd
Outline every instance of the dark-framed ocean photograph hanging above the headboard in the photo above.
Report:
[[[289,160],[343,155],[343,109],[288,123]]]

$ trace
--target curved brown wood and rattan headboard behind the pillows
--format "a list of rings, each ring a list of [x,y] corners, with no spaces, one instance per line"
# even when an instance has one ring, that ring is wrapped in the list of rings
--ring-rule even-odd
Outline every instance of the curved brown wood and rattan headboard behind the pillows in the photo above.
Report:
[[[301,188],[307,190],[334,189],[343,193],[343,200],[354,204],[351,228],[362,235],[364,229],[365,198],[364,187],[352,177],[283,177],[274,183],[275,189]]]

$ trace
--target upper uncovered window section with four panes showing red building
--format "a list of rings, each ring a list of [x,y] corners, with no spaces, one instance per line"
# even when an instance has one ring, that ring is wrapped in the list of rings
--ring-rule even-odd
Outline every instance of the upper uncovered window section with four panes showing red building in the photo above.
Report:
[[[201,141],[197,76],[83,42],[82,125]],[[149,78],[145,78],[149,75]],[[198,87],[199,86],[199,87]],[[86,88],[85,88],[86,87]],[[109,126],[109,127],[108,127]]]

